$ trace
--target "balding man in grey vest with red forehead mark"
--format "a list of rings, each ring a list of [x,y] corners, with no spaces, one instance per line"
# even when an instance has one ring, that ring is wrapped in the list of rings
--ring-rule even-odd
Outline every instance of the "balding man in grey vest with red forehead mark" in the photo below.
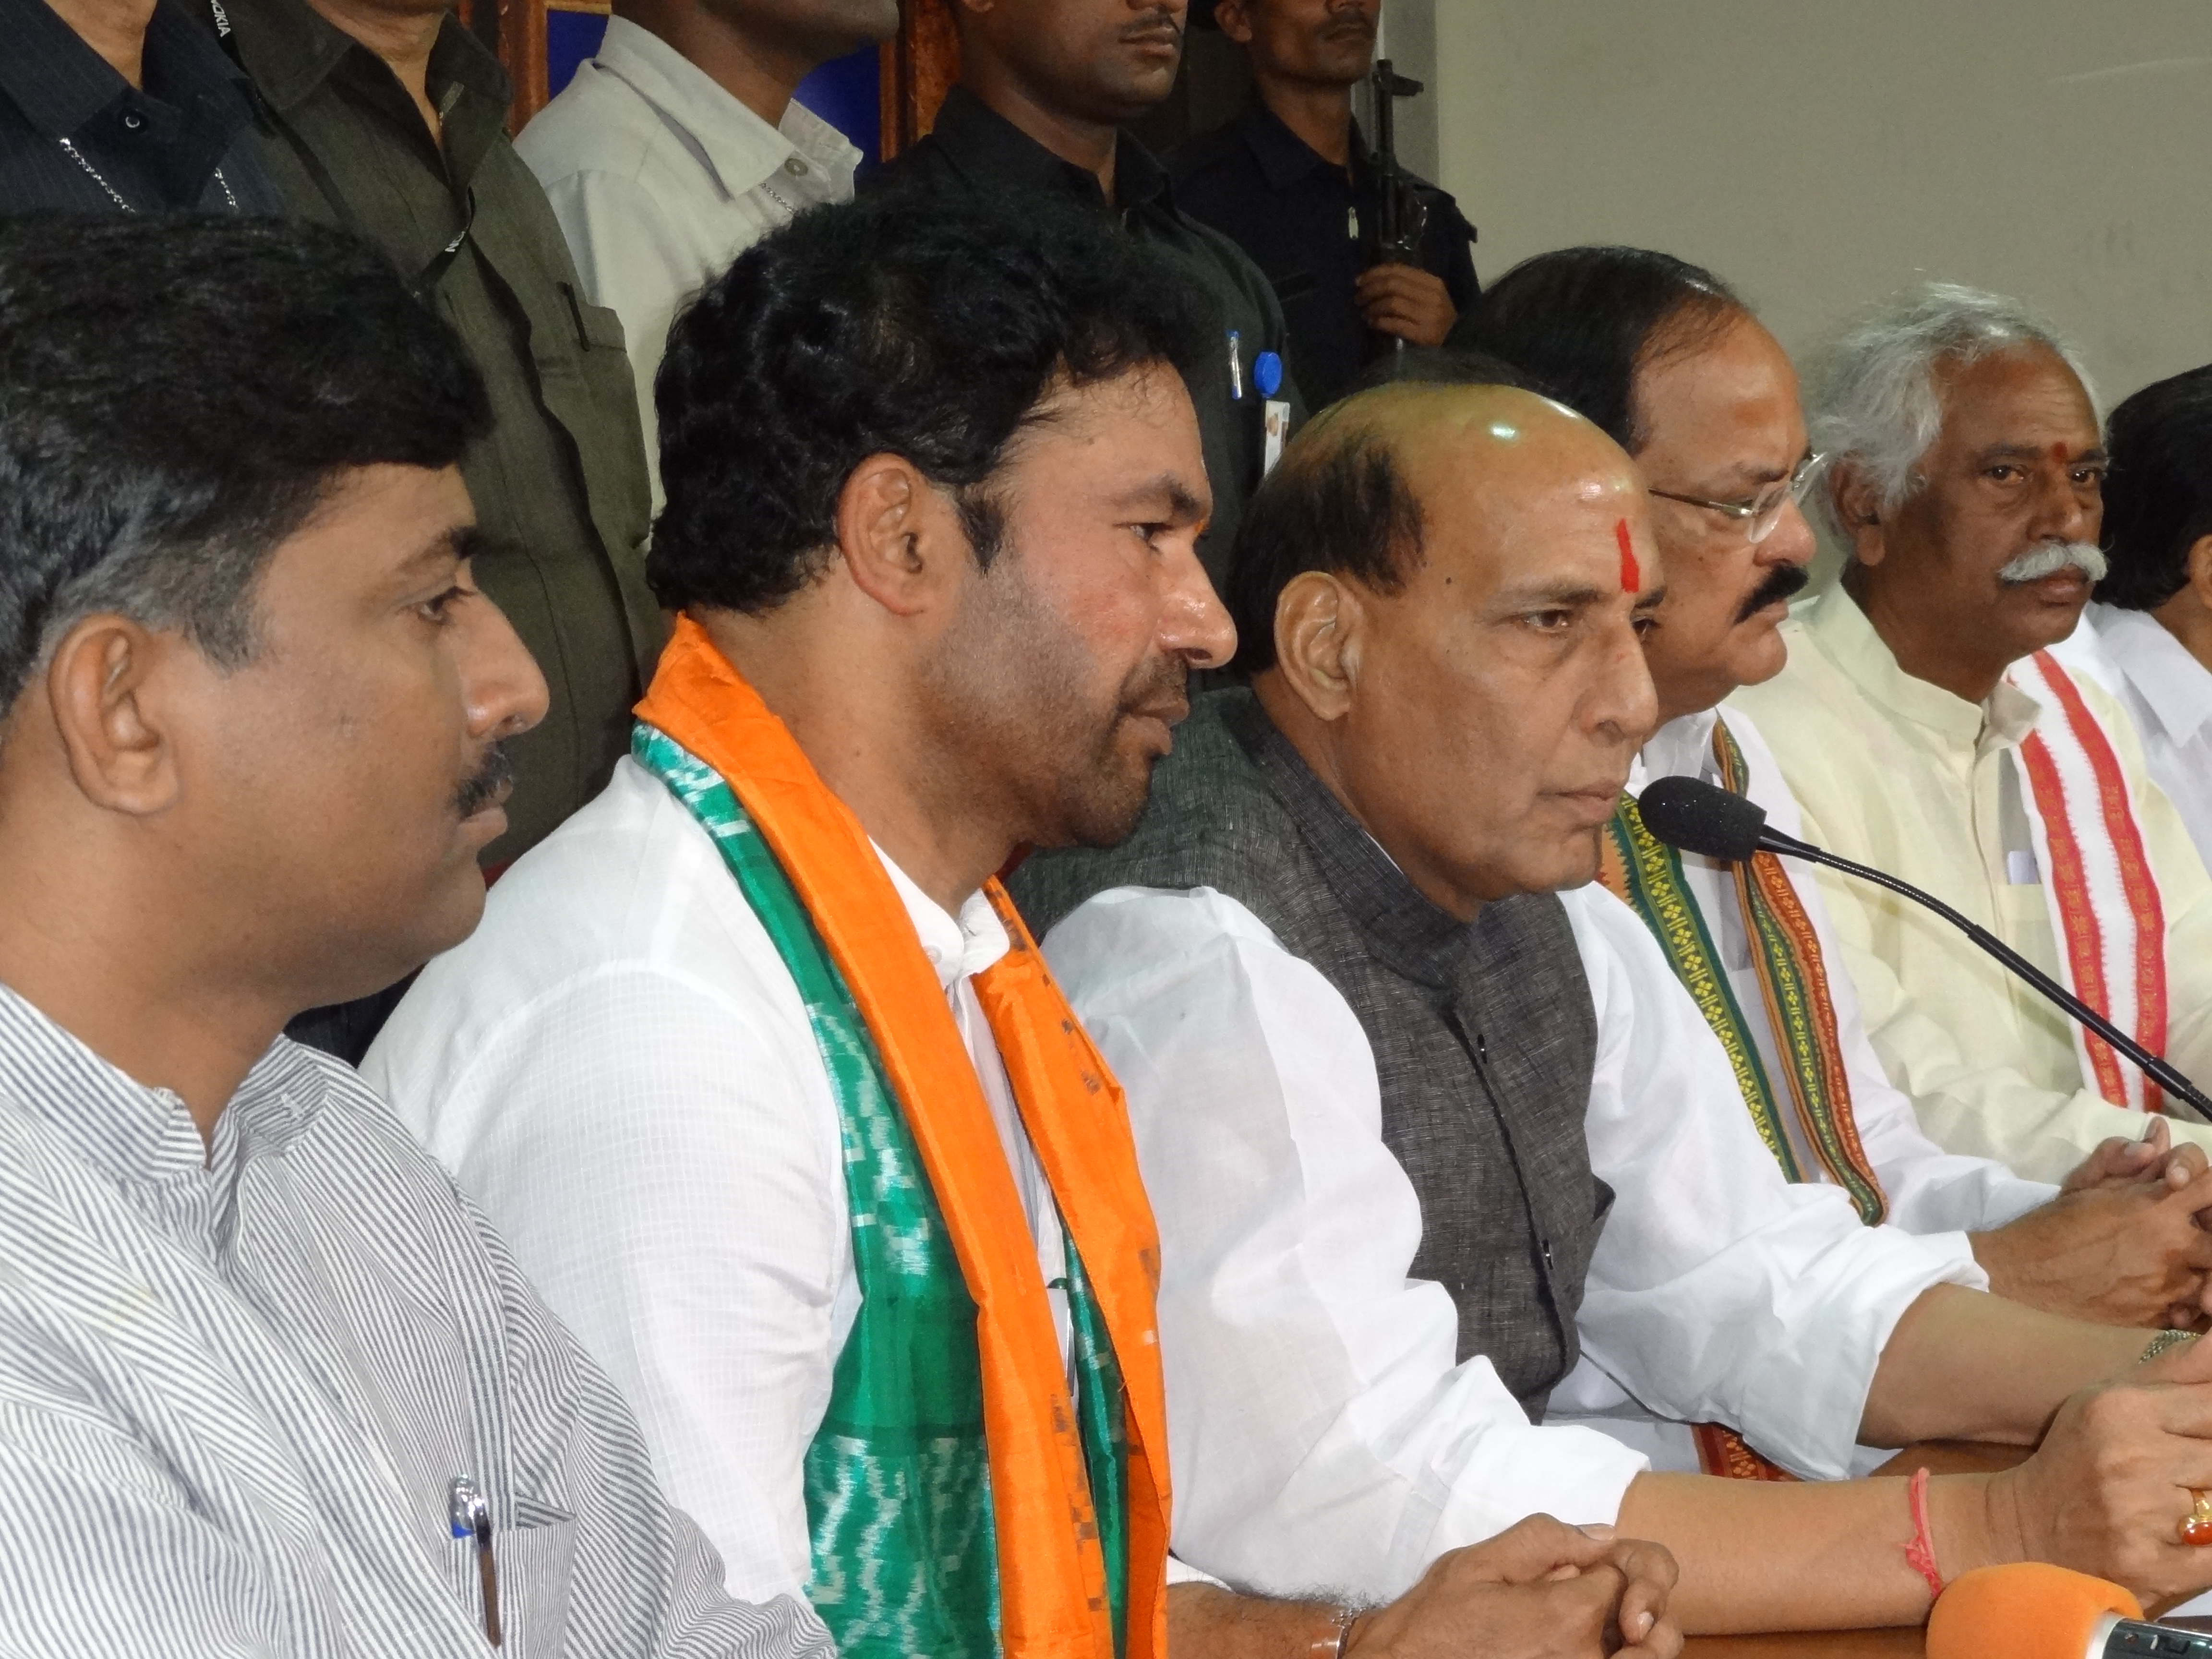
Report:
[[[1666,1544],[1688,1632],[1918,1621],[1978,1562],[2093,1559],[2132,1458],[2079,1436],[2152,1398],[2104,1380],[2201,1363],[1783,1181],[1659,947],[1588,885],[1657,726],[1663,595],[1644,478],[1595,425],[1502,385],[1356,394],[1245,522],[1250,690],[1197,701],[1126,843],[1015,872],[1128,1093],[1201,1571],[1389,1595],[1548,1511]],[[2042,1444],[1995,1478],[1661,1471],[1544,1420],[1577,1356],[1803,1475],[1854,1442]],[[2174,1480],[2115,1535],[2163,1551]]]

